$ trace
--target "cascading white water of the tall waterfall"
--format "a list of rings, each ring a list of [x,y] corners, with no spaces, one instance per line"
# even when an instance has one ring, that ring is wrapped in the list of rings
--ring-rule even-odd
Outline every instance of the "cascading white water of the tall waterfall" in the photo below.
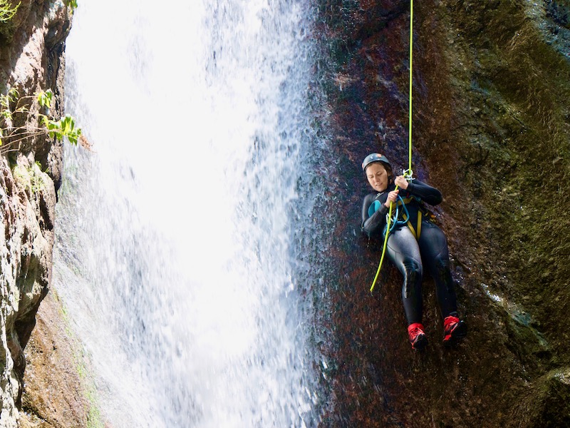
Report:
[[[311,4],[82,0],[54,287],[114,427],[311,427]],[[306,195],[306,193],[305,193]],[[306,284],[302,286],[306,288]]]

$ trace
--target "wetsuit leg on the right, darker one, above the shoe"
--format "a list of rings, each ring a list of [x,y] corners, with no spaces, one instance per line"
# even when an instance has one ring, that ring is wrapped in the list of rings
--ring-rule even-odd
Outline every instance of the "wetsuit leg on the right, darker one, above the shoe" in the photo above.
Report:
[[[457,316],[457,297],[451,277],[450,254],[445,234],[437,225],[424,220],[418,244],[423,263],[435,281],[435,292],[442,317]]]

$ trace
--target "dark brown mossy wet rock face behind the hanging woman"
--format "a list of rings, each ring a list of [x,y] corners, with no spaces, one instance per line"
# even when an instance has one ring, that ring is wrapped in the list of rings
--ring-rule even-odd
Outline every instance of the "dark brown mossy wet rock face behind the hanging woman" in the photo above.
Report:
[[[442,347],[432,280],[412,352],[401,277],[360,234],[362,159],[408,164],[409,1],[320,1],[338,212],[323,426],[543,427],[570,419],[567,1],[415,2],[413,170],[442,190],[462,345]],[[352,219],[352,220],[350,220]],[[328,225],[330,228],[330,224]],[[558,403],[556,406],[553,403]]]

